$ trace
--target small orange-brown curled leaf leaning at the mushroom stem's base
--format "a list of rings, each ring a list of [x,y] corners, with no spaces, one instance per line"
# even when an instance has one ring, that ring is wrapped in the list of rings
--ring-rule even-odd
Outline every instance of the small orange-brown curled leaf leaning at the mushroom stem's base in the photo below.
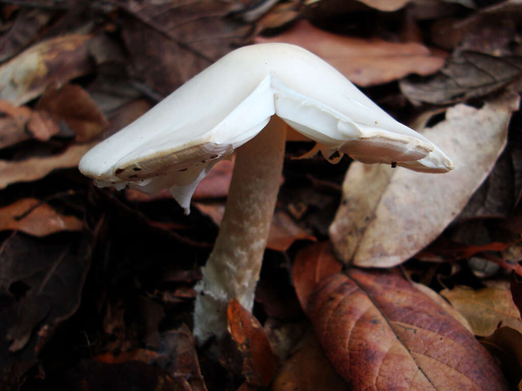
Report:
[[[230,335],[243,354],[243,374],[248,384],[268,386],[274,377],[276,360],[263,326],[236,299],[228,304],[227,322]]]

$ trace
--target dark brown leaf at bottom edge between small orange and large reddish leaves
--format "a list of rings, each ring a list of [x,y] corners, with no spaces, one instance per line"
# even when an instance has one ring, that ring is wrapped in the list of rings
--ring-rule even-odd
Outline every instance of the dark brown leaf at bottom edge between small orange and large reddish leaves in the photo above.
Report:
[[[272,391],[348,391],[314,334],[307,332],[277,374]]]

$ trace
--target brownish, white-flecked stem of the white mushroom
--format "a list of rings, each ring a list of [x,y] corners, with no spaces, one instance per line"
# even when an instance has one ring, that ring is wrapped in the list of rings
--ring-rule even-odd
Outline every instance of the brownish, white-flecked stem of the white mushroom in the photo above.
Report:
[[[287,124],[273,115],[252,140],[236,149],[226,210],[197,284],[194,335],[199,343],[227,330],[227,303],[251,311],[284,160]]]

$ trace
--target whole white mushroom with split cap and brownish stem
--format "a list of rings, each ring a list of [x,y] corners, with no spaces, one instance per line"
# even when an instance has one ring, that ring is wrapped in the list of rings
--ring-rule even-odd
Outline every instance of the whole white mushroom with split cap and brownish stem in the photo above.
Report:
[[[275,114],[275,115],[274,115]],[[168,188],[188,213],[199,181],[222,158],[236,162],[215,247],[203,268],[194,334],[226,332],[226,304],[252,309],[281,175],[287,124],[363,163],[444,173],[452,162],[401,125],[336,69],[301,47],[269,43],[224,56],[81,160],[98,186]]]

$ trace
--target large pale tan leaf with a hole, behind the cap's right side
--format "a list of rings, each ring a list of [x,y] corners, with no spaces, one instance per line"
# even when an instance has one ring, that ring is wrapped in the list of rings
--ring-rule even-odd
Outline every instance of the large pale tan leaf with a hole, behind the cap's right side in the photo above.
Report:
[[[330,226],[339,258],[358,266],[393,266],[432,242],[490,173],[518,102],[518,95],[505,93],[481,108],[458,104],[442,122],[418,129],[452,158],[450,173],[352,163]]]

